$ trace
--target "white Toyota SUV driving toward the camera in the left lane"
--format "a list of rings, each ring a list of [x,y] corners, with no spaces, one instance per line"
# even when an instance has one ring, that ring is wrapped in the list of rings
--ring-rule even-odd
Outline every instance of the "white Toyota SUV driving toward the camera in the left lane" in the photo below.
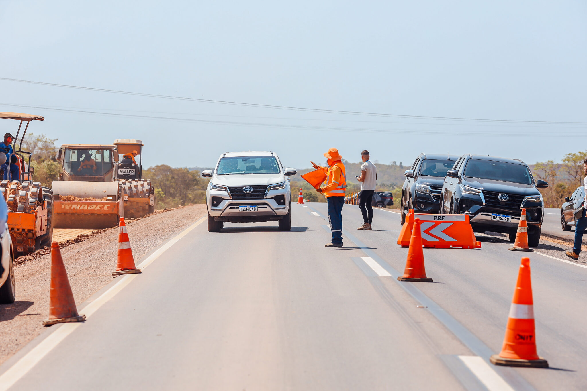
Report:
[[[273,152],[225,152],[213,170],[202,171],[212,178],[206,189],[208,232],[218,232],[224,222],[258,223],[277,221],[280,231],[291,230],[291,190],[285,168]]]

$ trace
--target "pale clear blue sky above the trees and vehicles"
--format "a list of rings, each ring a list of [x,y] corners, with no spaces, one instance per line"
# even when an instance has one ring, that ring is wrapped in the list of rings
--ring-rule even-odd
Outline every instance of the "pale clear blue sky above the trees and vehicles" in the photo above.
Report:
[[[273,150],[296,168],[320,161],[330,147],[349,161],[369,149],[373,160],[404,164],[420,152],[534,163],[587,149],[583,1],[0,0],[0,35],[0,77],[9,79],[276,106],[558,122],[279,110],[0,80],[0,111],[45,116],[32,132],[58,144],[139,138],[146,165],[210,166],[222,152],[247,149]],[[0,121],[2,133],[15,128]]]

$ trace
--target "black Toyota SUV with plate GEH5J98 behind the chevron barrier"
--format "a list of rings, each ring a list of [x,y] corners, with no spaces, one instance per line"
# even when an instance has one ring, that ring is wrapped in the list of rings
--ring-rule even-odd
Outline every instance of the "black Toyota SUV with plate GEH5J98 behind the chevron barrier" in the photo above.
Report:
[[[438,212],[469,215],[475,232],[507,233],[514,242],[526,208],[528,245],[536,247],[544,217],[538,189],[547,187],[545,181],[534,183],[530,169],[518,159],[467,154],[447,171]]]

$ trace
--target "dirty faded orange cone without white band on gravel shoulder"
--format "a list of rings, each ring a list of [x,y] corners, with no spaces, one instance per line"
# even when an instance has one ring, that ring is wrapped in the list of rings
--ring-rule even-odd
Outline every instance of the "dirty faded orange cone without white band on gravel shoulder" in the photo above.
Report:
[[[77,314],[72,288],[69,286],[68,273],[63,264],[59,244],[51,244],[51,288],[49,293],[49,318],[44,326],[65,322],[82,322],[86,315]]]

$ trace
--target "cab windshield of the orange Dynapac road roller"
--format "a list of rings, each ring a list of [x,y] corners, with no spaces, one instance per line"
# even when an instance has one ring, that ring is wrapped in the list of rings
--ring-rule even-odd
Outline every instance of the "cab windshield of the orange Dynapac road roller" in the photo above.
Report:
[[[63,168],[69,175],[103,176],[113,167],[109,149],[66,149]]]

